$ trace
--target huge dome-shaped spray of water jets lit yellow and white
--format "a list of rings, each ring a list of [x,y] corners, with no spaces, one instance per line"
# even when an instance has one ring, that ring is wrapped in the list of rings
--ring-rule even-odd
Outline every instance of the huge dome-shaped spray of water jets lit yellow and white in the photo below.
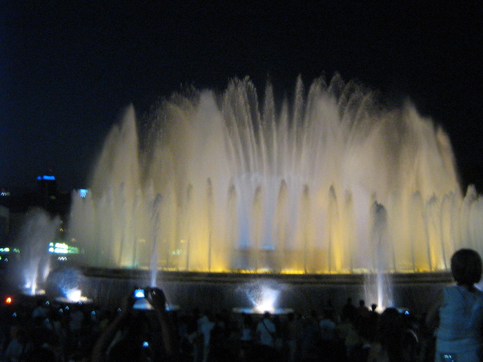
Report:
[[[482,199],[462,196],[449,138],[411,103],[385,109],[338,75],[258,97],[248,79],[175,94],[144,137],[128,108],[72,203],[90,265],[435,271],[482,251]]]

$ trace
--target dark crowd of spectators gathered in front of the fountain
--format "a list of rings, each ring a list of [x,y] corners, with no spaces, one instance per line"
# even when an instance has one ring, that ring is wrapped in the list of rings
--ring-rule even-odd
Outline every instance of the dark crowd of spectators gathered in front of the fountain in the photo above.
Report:
[[[341,310],[327,301],[307,315],[157,314],[132,309],[129,298],[115,310],[38,299],[3,305],[0,328],[6,362],[433,361],[435,341],[422,316],[351,299]]]

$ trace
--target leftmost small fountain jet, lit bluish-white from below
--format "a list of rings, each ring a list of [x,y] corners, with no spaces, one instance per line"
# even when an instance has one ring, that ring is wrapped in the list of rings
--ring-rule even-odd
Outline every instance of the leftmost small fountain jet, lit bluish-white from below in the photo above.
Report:
[[[51,218],[47,212],[36,209],[26,214],[26,221],[19,234],[21,250],[21,274],[24,277],[23,292],[30,295],[44,294],[43,286],[50,273],[49,243],[55,239],[60,219]]]

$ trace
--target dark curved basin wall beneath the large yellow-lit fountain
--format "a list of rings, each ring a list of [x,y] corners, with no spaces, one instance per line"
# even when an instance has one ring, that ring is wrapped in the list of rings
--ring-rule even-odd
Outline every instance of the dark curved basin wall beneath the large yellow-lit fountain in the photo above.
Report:
[[[59,272],[59,271],[58,271]],[[84,295],[102,308],[112,308],[134,288],[149,285],[149,270],[84,268]],[[55,273],[55,272],[54,272]],[[438,291],[453,283],[451,273],[388,274],[393,283],[394,305],[422,314],[435,302]],[[279,308],[292,308],[307,314],[322,310],[330,299],[337,310],[347,298],[354,303],[365,299],[364,274],[250,274],[210,272],[157,273],[157,286],[162,288],[168,303],[189,312],[199,310],[233,310],[250,307],[246,289],[253,285],[279,288]],[[366,300],[370,305],[375,301]]]

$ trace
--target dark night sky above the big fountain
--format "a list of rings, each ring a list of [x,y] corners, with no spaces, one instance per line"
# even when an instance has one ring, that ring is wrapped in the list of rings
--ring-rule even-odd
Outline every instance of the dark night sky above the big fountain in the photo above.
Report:
[[[338,71],[410,97],[449,133],[463,186],[481,190],[482,3],[388,2],[3,2],[0,187],[33,187],[48,168],[62,189],[85,186],[129,103],[142,116],[183,85],[248,75],[282,94],[299,74]]]

